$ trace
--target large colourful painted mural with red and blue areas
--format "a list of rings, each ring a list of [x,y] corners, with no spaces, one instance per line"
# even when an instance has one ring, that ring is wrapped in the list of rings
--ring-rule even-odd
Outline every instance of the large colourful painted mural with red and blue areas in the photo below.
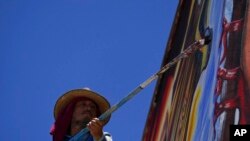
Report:
[[[224,141],[250,124],[249,0],[180,0],[165,65],[194,41],[211,42],[157,82],[143,141]]]

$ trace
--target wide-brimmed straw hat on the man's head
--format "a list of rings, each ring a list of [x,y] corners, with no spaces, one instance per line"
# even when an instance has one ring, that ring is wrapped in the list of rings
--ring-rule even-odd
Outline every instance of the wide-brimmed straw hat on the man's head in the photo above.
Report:
[[[65,110],[68,104],[70,104],[73,100],[76,100],[78,98],[88,98],[95,102],[98,106],[100,114],[104,113],[110,108],[110,103],[108,102],[108,100],[97,92],[94,92],[89,88],[74,89],[66,92],[58,98],[54,107],[54,118],[57,119],[59,113]],[[108,123],[110,117],[111,116],[107,117],[104,120],[104,124]]]

